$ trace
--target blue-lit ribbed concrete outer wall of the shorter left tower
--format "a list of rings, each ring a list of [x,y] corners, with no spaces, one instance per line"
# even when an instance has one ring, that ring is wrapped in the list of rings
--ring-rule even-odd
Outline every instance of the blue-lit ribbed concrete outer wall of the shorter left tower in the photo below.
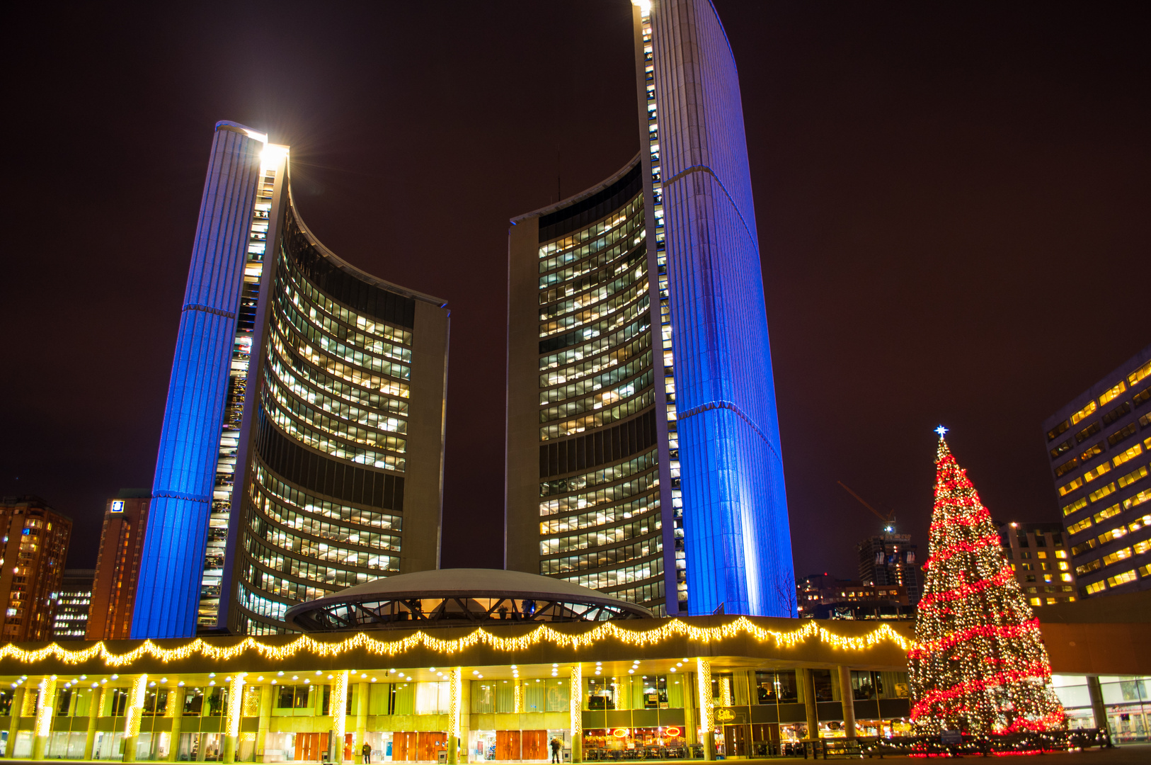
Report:
[[[262,142],[212,141],[152,485],[132,637],[196,634],[200,567]]]

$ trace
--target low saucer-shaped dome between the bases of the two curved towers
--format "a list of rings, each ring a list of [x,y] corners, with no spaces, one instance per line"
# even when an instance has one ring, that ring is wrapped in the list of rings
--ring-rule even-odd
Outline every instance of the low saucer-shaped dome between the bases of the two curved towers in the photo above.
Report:
[[[647,619],[650,611],[571,582],[498,568],[441,568],[374,580],[300,603],[304,631]]]

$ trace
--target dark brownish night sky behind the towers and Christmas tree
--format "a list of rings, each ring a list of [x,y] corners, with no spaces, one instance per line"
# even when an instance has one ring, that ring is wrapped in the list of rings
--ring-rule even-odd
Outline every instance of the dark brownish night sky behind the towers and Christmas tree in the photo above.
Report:
[[[6,12],[0,494],[90,567],[151,486],[227,119],[333,251],[448,301],[443,565],[501,566],[508,219],[638,150],[627,0],[174,5]],[[796,574],[878,528],[837,480],[925,548],[939,423],[996,518],[1055,521],[1041,422],[1151,342],[1149,6],[717,7]]]

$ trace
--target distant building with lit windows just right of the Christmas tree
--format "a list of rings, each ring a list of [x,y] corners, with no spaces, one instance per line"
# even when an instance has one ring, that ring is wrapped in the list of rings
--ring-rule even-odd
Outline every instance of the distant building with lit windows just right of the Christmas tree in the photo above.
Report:
[[[1060,523],[1000,523],[999,544],[1031,606],[1074,603],[1075,573]]]

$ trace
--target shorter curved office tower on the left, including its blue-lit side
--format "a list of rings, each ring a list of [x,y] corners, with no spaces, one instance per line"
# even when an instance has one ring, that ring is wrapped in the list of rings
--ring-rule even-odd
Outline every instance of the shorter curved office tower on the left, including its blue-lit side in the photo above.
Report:
[[[448,310],[344,263],[289,151],[216,124],[132,637],[284,631],[300,600],[439,565]]]

